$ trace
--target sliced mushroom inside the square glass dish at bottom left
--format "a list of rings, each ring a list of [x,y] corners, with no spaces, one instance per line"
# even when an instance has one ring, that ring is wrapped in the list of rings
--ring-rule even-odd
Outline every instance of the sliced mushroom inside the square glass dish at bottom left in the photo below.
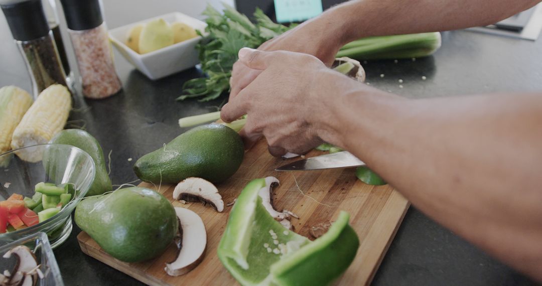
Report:
[[[4,258],[10,258],[12,254],[16,256],[17,262],[15,263],[15,268],[11,271],[12,275],[9,277],[8,284],[35,285],[37,282],[35,270],[38,264],[34,253],[27,246],[19,245],[6,252]],[[30,274],[31,272],[33,274]]]

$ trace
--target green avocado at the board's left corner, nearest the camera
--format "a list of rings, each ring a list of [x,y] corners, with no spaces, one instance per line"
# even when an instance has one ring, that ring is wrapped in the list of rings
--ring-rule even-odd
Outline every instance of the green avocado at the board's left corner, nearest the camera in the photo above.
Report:
[[[142,187],[84,199],[75,209],[75,223],[105,252],[124,262],[161,255],[178,231],[170,202]]]

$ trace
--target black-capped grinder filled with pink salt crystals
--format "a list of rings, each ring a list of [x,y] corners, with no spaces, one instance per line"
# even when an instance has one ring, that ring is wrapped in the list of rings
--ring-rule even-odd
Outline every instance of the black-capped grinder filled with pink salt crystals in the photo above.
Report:
[[[122,88],[99,0],[61,0],[86,98],[102,99]]]

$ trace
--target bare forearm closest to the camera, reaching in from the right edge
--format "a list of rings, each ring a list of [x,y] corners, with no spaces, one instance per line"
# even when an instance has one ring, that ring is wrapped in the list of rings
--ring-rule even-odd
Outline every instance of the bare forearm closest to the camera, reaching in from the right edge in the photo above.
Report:
[[[542,94],[361,94],[334,105],[340,132],[322,139],[358,155],[437,222],[542,280]]]

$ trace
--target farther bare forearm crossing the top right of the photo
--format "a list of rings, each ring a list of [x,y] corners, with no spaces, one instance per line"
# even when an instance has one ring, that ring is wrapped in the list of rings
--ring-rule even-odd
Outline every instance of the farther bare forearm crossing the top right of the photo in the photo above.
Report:
[[[365,36],[493,24],[538,2],[540,0],[353,0],[327,10],[310,25],[327,31],[323,34],[329,34],[328,38],[345,44]]]

